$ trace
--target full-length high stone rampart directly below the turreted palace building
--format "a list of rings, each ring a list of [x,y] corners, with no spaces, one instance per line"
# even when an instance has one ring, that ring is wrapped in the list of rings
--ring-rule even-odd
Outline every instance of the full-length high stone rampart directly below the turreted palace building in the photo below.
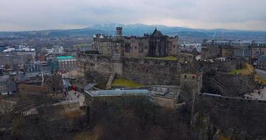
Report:
[[[144,85],[179,85],[178,61],[118,57],[111,55],[78,55],[79,76],[108,79],[112,72],[117,78],[128,78]],[[97,82],[97,81],[96,81]]]

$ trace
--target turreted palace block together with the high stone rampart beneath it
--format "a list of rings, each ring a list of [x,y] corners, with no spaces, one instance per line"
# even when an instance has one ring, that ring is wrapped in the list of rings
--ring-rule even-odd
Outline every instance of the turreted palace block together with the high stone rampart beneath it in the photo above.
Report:
[[[78,54],[80,76],[110,83],[115,76],[143,85],[179,85],[178,36],[164,36],[155,29],[143,37],[128,37],[117,27],[117,36],[96,34],[93,48],[99,54]]]

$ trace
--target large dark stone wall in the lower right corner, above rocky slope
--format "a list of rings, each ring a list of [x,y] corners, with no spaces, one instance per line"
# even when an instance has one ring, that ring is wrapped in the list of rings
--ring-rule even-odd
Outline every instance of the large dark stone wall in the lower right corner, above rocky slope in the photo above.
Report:
[[[215,129],[266,134],[266,101],[198,94],[194,105],[196,119],[210,117]],[[196,127],[200,126],[196,124]]]

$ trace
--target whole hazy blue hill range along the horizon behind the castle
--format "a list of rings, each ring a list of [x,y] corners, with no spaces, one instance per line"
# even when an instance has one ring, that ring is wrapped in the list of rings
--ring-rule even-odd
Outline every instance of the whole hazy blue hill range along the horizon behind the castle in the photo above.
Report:
[[[58,29],[45,31],[15,31],[0,32],[0,38],[3,36],[21,36],[24,37],[72,37],[72,36],[93,36],[93,34],[116,33],[116,27],[123,27],[123,34],[126,36],[142,36],[150,34],[155,27],[163,34],[171,36],[179,36],[181,42],[199,43],[202,39],[218,39],[218,40],[255,40],[266,41],[266,31],[244,31],[230,29],[191,29],[184,27],[167,27],[164,25],[144,25],[144,24],[99,24],[84,29]]]

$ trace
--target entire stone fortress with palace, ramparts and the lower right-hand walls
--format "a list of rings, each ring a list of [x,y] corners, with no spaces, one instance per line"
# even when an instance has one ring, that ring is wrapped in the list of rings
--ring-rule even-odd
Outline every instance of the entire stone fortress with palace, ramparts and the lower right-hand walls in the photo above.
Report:
[[[160,106],[189,111],[194,139],[261,139],[266,136],[261,125],[266,102],[245,97],[262,84],[247,64],[249,56],[243,55],[248,50],[220,46],[204,41],[203,56],[197,60],[180,52],[178,36],[157,29],[142,37],[123,36],[117,27],[117,36],[94,36],[97,53],[78,53],[78,73],[91,83],[105,81],[107,89],[116,88],[112,83],[117,78],[142,84],[127,89],[149,90]],[[242,56],[234,57],[239,51]],[[246,66],[249,73],[230,73]]]

